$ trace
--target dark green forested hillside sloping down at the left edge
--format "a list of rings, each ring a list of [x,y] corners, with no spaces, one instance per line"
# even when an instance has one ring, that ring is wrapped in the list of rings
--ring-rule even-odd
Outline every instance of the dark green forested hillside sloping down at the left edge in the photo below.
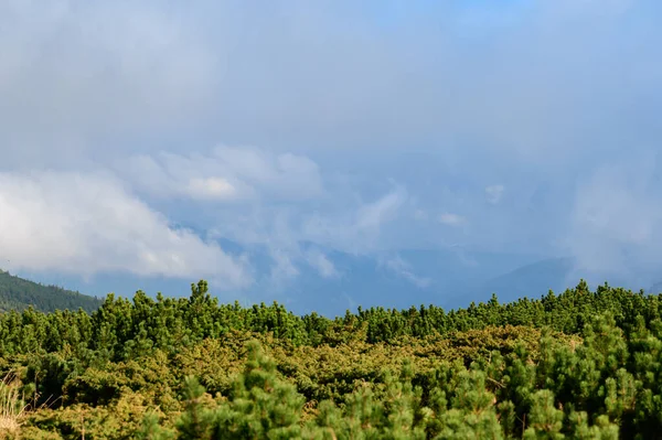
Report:
[[[0,270],[0,311],[23,310],[29,305],[42,312],[78,310],[92,312],[102,300],[56,286],[44,286]]]

